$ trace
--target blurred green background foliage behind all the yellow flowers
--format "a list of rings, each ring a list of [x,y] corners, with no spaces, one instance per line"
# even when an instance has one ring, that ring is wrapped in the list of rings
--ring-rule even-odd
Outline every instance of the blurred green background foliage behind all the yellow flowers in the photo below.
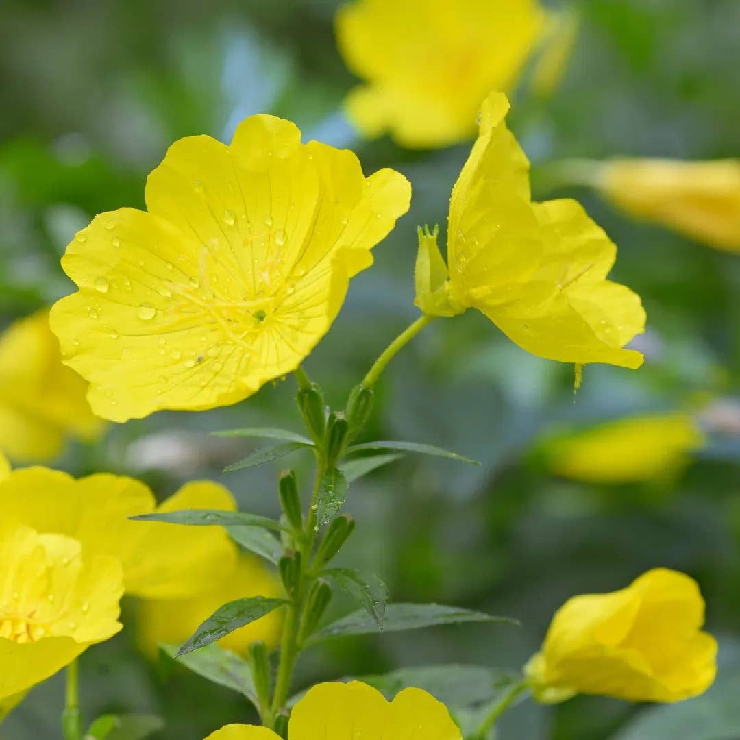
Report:
[[[354,149],[366,172],[394,166],[414,186],[411,213],[353,281],[342,314],[306,368],[340,405],[388,340],[417,314],[412,269],[417,224],[443,226],[468,144],[408,152],[361,141],[343,117],[354,84],[334,43],[334,0],[4,0],[0,10],[0,322],[70,292],[58,260],[92,215],[144,205],[144,179],[185,135],[228,141],[254,112],[295,121],[304,141]],[[502,738],[719,740],[740,736],[740,255],[634,223],[585,190],[551,190],[548,162],[610,155],[737,155],[740,121],[736,0],[584,2],[559,90],[516,94],[510,126],[533,162],[535,196],[579,198],[619,245],[613,277],[645,302],[639,371],[588,366],[573,396],[572,368],[511,344],[471,312],[432,326],[394,360],[367,438],[417,440],[480,468],[408,458],[354,484],[357,518],[346,564],[378,573],[397,601],[434,600],[517,617],[402,636],[343,639],[309,653],[298,680],[383,673],[402,665],[475,663],[517,669],[568,596],[626,585],[657,565],[702,586],[721,642],[716,686],[680,707],[577,697],[525,703]],[[4,391],[12,388],[4,388]],[[94,445],[72,444],[54,464],[147,480],[164,497],[184,480],[229,485],[240,507],[276,514],[277,468],[230,477],[221,468],[251,447],[219,428],[296,428],[295,383],[263,388],[232,408],[161,413],[113,425]],[[651,480],[590,483],[551,472],[542,439],[633,414],[685,411],[705,442]],[[629,464],[628,444],[613,456]],[[289,459],[308,484],[309,456]],[[21,464],[28,461],[16,461]],[[280,461],[285,462],[285,461]],[[349,610],[341,599],[338,612]],[[204,679],[153,665],[127,628],[82,658],[83,703],[158,713],[160,740],[200,739],[249,721],[243,699]],[[166,666],[165,666],[166,667]],[[36,688],[0,729],[7,740],[52,737],[57,677]],[[709,708],[707,708],[709,707]],[[718,708],[719,707],[719,708]],[[697,716],[719,724],[697,729]],[[734,713],[734,716],[733,716]],[[722,724],[724,723],[724,724]]]

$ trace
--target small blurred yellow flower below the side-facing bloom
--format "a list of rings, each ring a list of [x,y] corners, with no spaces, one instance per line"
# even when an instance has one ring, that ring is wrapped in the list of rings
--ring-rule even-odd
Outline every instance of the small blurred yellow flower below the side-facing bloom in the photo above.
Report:
[[[560,434],[543,445],[557,475],[594,483],[653,480],[681,471],[704,435],[690,414],[629,417]]]

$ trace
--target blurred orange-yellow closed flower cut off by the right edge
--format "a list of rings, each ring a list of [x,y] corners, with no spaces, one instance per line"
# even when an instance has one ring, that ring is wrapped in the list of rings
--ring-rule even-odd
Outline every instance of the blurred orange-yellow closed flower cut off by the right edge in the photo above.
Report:
[[[595,176],[630,215],[740,252],[740,160],[613,159]]]

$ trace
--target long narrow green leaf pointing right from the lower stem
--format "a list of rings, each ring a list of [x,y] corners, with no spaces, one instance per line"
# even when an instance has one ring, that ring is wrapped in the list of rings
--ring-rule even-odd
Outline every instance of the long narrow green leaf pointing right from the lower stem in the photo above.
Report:
[[[439,604],[389,604],[383,618],[383,632],[417,630],[423,627],[455,625],[462,622],[509,622],[516,620],[504,616],[490,616],[480,611],[458,609]],[[377,622],[365,610],[355,611],[337,622],[327,625],[312,642],[344,635],[368,635],[377,633]]]

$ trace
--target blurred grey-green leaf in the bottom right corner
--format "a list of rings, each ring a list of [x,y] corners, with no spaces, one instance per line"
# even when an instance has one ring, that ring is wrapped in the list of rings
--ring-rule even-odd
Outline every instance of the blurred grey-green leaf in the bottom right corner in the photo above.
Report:
[[[614,740],[736,740],[740,727],[740,665],[719,670],[707,693],[642,710]]]

